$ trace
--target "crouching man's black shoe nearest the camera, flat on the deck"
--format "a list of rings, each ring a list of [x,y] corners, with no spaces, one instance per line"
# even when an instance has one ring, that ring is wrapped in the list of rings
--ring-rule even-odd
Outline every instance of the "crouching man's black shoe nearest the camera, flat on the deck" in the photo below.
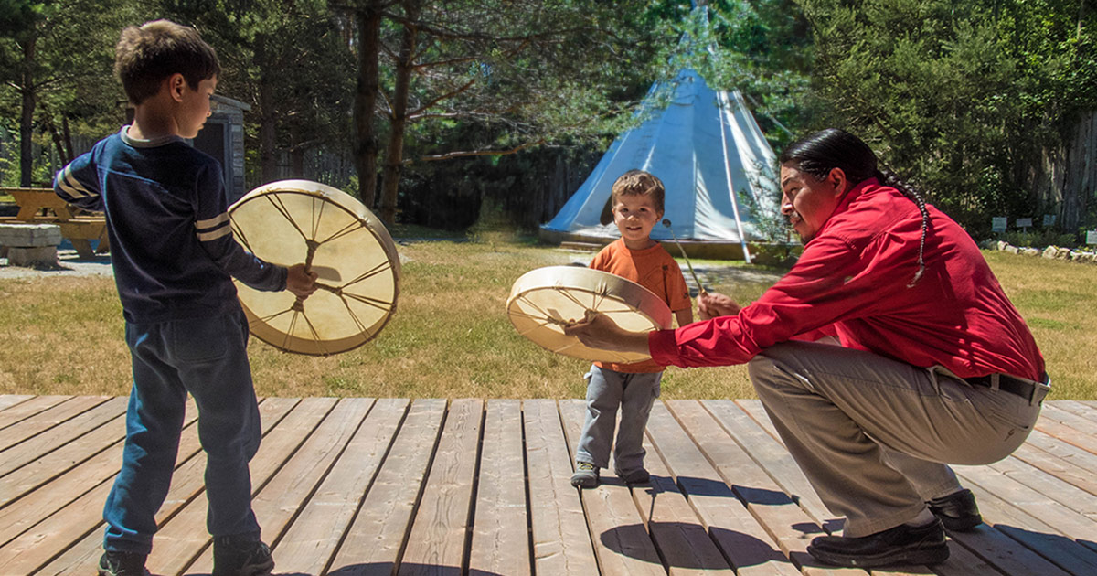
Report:
[[[807,553],[837,566],[872,567],[889,564],[939,564],[949,558],[940,520],[923,527],[900,524],[862,538],[818,537]]]

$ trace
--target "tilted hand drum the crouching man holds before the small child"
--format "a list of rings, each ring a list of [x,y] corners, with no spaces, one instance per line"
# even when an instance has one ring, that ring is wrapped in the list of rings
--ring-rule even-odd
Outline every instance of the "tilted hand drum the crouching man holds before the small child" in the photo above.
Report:
[[[647,353],[590,348],[564,334],[587,310],[609,316],[630,331],[670,327],[670,308],[652,291],[621,276],[569,266],[539,268],[514,281],[507,315],[518,334],[553,352],[599,362],[638,362]]]

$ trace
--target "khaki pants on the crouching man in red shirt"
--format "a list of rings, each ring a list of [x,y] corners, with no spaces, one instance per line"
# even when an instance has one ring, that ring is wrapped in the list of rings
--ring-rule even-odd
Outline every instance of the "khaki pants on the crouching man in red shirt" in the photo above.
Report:
[[[819,498],[859,538],[908,522],[960,489],[945,465],[988,464],[1028,437],[1040,404],[972,386],[941,368],[870,352],[784,342],[750,380]]]

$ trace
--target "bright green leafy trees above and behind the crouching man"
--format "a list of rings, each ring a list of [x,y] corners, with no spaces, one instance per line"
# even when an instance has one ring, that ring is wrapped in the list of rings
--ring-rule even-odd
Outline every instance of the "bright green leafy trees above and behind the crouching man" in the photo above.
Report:
[[[1097,11],[1065,0],[802,0],[815,92],[975,235],[1033,214],[1041,155],[1093,110]]]

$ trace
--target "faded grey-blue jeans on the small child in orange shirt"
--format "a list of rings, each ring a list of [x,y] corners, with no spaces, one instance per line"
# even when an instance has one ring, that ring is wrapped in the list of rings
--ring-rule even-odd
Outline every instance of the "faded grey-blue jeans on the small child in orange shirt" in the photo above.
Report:
[[[644,427],[659,396],[663,372],[629,374],[591,365],[586,379],[587,419],[575,451],[576,462],[607,468],[612,445],[613,468],[619,476],[643,468]],[[621,427],[614,444],[618,406],[621,407]]]

